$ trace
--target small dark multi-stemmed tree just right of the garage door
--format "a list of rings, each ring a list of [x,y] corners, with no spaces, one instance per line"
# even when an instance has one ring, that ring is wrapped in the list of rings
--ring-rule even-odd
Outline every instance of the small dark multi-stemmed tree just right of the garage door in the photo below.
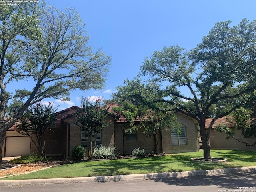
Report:
[[[29,136],[42,157],[45,156],[45,132],[52,130],[57,123],[57,114],[53,104],[37,103],[30,106],[19,118],[20,134]]]

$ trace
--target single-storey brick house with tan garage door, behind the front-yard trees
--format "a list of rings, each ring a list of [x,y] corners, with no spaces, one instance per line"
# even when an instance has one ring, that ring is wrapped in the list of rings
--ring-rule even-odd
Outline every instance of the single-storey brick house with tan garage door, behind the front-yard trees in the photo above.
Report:
[[[115,105],[111,106],[114,107]],[[111,112],[110,108],[110,112]],[[58,112],[60,121],[52,130],[46,132],[46,155],[47,156],[63,156],[64,158],[72,158],[72,150],[74,146],[86,146],[84,134],[74,124],[74,112],[78,110],[77,106],[73,106]],[[189,113],[185,111],[176,112],[178,122],[180,122],[182,134],[175,132],[162,131],[157,134],[158,152],[180,153],[195,152],[199,150],[197,122]],[[116,146],[118,152],[122,154],[122,126],[124,119],[107,116],[107,120],[112,120],[106,128],[102,130],[96,138],[96,144],[103,146]],[[136,121],[136,120],[135,120]],[[18,127],[14,125],[6,132],[5,144],[2,150],[2,156],[20,156],[36,152],[34,143],[27,136],[21,135],[15,130]],[[143,128],[128,135],[126,137],[125,154],[131,154],[134,148],[145,148],[147,153],[154,150],[154,138],[147,136]]]

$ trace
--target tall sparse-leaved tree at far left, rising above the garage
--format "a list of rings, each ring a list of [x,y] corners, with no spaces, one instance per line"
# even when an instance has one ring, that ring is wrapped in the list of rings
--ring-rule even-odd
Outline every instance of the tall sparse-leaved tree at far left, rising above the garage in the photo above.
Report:
[[[76,11],[22,3],[0,9],[0,151],[6,130],[32,104],[44,98],[68,100],[71,90],[102,88],[110,56],[87,45],[85,25]],[[30,83],[24,83],[29,80]],[[14,92],[7,88],[23,82]],[[22,105],[8,118],[8,104]],[[1,153],[0,153],[1,154]],[[2,156],[0,156],[0,168]]]

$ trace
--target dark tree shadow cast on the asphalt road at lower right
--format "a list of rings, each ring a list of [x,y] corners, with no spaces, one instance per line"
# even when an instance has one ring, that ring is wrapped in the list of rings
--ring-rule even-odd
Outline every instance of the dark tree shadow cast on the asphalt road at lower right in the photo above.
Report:
[[[241,179],[241,175],[244,175],[246,179]],[[229,190],[237,190],[237,187],[240,186],[255,186],[255,172],[254,174],[248,172],[242,174],[193,176],[186,178],[158,178],[152,180],[176,186],[218,186]]]

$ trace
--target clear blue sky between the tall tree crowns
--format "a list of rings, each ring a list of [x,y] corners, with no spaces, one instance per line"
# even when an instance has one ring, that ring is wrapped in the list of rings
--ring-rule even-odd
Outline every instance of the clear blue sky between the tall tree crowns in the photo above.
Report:
[[[110,54],[104,90],[73,91],[70,102],[48,99],[59,109],[80,105],[80,98],[111,97],[126,78],[139,73],[144,58],[164,46],[195,48],[216,22],[256,19],[255,0],[46,0],[58,9],[72,7],[86,23],[89,45]]]

